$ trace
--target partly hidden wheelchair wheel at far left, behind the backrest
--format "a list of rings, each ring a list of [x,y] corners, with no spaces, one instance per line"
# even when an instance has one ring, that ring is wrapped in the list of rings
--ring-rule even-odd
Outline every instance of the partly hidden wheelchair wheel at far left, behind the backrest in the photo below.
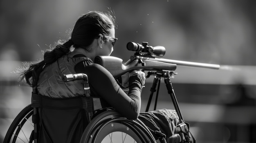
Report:
[[[33,108],[31,104],[25,107],[11,123],[4,143],[32,143],[34,124],[32,123]]]

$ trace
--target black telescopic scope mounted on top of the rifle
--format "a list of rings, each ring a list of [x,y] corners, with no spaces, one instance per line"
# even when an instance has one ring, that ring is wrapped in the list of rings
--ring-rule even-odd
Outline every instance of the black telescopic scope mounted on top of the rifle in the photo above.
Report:
[[[128,42],[126,47],[129,51],[136,51],[136,53],[143,52],[147,53],[147,55],[163,57],[165,54],[165,48],[163,46],[148,46],[148,42],[142,42],[142,45],[135,42]]]

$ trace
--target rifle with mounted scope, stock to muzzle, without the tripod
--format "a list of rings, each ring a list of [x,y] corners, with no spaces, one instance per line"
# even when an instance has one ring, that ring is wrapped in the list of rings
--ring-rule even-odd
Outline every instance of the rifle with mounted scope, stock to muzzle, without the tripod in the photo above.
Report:
[[[121,77],[121,75],[130,72],[132,70],[176,70],[177,66],[191,66],[200,68],[212,68],[219,69],[218,64],[206,64],[198,62],[186,62],[172,59],[157,58],[162,57],[165,54],[165,48],[163,46],[148,46],[148,42],[142,42],[141,44],[135,42],[128,42],[127,49],[129,51],[135,51],[135,54],[130,59],[123,63],[123,59],[113,56],[97,56],[94,59],[94,63],[100,64],[106,68],[115,79]],[[130,66],[130,63],[134,60],[138,60],[135,66]]]

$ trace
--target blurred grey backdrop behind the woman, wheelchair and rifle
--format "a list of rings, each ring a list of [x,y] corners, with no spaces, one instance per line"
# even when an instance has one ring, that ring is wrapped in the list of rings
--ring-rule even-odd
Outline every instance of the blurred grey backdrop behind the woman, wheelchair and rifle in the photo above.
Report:
[[[173,79],[198,143],[256,143],[255,0],[1,0],[0,141],[31,102],[31,88],[18,83],[24,62],[37,62],[54,42],[68,40],[83,13],[109,9],[118,25],[112,56],[127,61],[128,42],[148,42],[166,48],[162,58],[221,65],[178,66]],[[152,81],[142,91],[141,112]],[[163,81],[156,108],[173,109]]]

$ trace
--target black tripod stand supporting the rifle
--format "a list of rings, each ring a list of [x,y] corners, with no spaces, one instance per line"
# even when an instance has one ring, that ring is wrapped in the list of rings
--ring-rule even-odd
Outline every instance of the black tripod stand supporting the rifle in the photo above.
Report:
[[[158,84],[154,110],[156,109],[159,86],[160,86],[160,82],[161,82],[162,77],[164,77],[164,83],[166,85],[168,94],[171,95],[171,99],[173,101],[173,106],[174,106],[174,108],[177,112],[177,115],[178,115],[179,121],[180,121],[180,124],[177,125],[177,127],[175,128],[175,133],[180,134],[181,139],[182,139],[182,143],[195,143],[195,138],[189,132],[189,124],[184,122],[184,119],[182,117],[180,107],[179,107],[179,104],[178,104],[173,86],[172,86],[172,83],[171,83],[171,79],[173,79],[174,75],[176,75],[176,74],[177,73],[174,73],[174,71],[170,71],[170,70],[160,70],[160,71],[156,71],[156,72],[151,72],[151,71],[148,72],[148,75],[146,76],[146,78],[150,77],[150,75],[155,75],[155,78],[154,78],[154,81],[153,81],[153,85],[150,88],[150,97],[148,99],[146,112],[148,112],[153,94],[156,91],[156,87],[157,87],[157,84]]]

